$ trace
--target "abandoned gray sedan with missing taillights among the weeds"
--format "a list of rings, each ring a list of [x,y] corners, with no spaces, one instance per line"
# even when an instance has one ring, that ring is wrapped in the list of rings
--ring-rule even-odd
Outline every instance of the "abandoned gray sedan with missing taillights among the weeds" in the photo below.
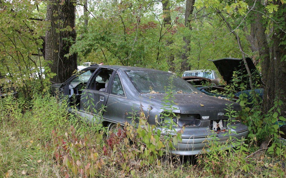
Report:
[[[118,122],[136,125],[139,120],[130,118],[129,113],[140,109],[149,124],[173,120],[174,130],[184,128],[182,141],[175,145],[175,150],[171,150],[174,154],[199,154],[214,137],[224,143],[229,139],[227,133],[238,139],[248,134],[247,126],[225,115],[227,105],[240,111],[239,104],[205,95],[182,78],[164,71],[127,66],[91,66],[62,84],[53,84],[52,91],[68,95],[70,112],[77,112],[90,122],[102,122],[109,128]],[[171,106],[166,103],[168,91],[172,91],[174,97],[172,118],[164,117],[165,112],[170,112],[165,109],[166,106]],[[102,107],[105,107],[104,110]],[[225,130],[231,132],[224,133]]]

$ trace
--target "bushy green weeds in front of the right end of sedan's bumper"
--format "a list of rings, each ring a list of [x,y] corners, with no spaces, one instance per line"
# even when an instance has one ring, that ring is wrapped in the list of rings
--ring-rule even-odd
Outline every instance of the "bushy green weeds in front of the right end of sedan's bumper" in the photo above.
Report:
[[[218,177],[234,177],[238,172],[248,172],[253,169],[253,165],[247,164],[244,159],[249,153],[248,145],[245,144],[245,138],[237,139],[232,136],[231,126],[234,122],[231,118],[237,117],[237,112],[233,111],[233,107],[227,107],[228,127],[225,130],[224,136],[229,136],[229,139],[221,144],[217,140],[216,133],[212,136],[213,140],[203,150],[203,154],[198,156],[198,165],[202,167],[210,175]],[[235,148],[233,148],[235,147]]]

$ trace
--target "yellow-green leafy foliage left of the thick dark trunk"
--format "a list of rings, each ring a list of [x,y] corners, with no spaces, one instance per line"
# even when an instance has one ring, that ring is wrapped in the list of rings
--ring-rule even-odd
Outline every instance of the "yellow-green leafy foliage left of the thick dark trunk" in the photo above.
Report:
[[[50,77],[43,77],[37,68],[47,63],[40,57],[45,23],[31,20],[34,16],[30,12],[36,7],[37,3],[29,1],[5,1],[1,3],[0,13],[0,75],[9,78],[27,98],[32,97],[35,91],[45,93]],[[47,67],[45,69],[49,71]]]

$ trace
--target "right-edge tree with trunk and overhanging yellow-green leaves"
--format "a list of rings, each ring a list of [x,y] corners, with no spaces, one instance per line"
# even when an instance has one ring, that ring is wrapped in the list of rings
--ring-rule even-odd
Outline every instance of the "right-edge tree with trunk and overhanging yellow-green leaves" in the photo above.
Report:
[[[213,4],[212,1],[196,1],[196,6],[201,7],[204,3],[206,6],[212,6],[212,10],[222,18],[222,22],[227,26],[233,25],[235,28],[229,28],[237,36],[238,45],[239,33],[243,26],[248,25],[251,27],[251,36],[257,40],[257,49],[261,60],[262,78],[265,84],[264,96],[262,102],[263,119],[269,119],[273,116],[285,116],[286,115],[286,2],[285,0],[275,1],[262,1],[262,0],[250,0],[250,1],[217,1]],[[210,11],[212,11],[210,10]],[[212,11],[213,13],[214,11]],[[225,14],[224,15],[222,15]],[[227,18],[224,18],[227,17]],[[255,34],[253,34],[255,32]],[[252,43],[251,43],[252,44]],[[255,44],[255,43],[253,43]],[[240,46],[240,49],[241,46]],[[254,50],[253,48],[252,50]],[[244,58],[245,53],[242,51]],[[251,56],[251,54],[247,54]],[[284,101],[284,103],[283,103]],[[271,112],[270,112],[271,111]],[[269,113],[271,114],[269,116]],[[270,119],[271,119],[270,118]],[[281,117],[282,119],[282,117]],[[277,120],[279,118],[277,117]],[[284,119],[283,119],[284,120]],[[260,122],[261,124],[261,122]],[[258,124],[258,126],[261,126]],[[263,124],[262,124],[263,126]],[[276,125],[277,126],[277,125]],[[275,127],[276,127],[275,126]],[[275,128],[273,126],[273,128]],[[277,129],[276,129],[277,130]],[[269,134],[269,137],[264,136],[261,140],[261,148],[265,148],[269,144],[270,138],[273,136]]]

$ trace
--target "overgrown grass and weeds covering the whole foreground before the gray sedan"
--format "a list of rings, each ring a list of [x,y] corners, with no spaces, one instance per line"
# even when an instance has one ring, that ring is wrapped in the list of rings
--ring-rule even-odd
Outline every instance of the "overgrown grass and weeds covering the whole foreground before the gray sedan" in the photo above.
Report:
[[[210,152],[198,155],[196,161],[168,153],[151,159],[144,153],[146,144],[130,125],[121,135],[107,137],[102,125],[82,122],[67,113],[66,107],[64,101],[59,103],[49,95],[34,95],[29,102],[0,99],[1,177],[285,176],[285,154],[252,158],[249,155],[256,147],[247,140],[237,149],[222,149],[214,141]],[[150,151],[149,155],[154,154]]]

